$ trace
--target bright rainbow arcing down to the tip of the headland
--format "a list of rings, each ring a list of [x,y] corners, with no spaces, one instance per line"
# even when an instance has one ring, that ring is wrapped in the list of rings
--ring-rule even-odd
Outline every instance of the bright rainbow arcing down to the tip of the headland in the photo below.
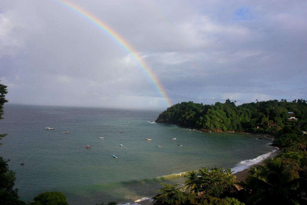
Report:
[[[109,36],[113,41],[115,41],[123,50],[129,53],[131,58],[137,63],[138,67],[145,73],[145,75],[154,85],[159,95],[164,99],[165,105],[167,107],[170,107],[172,105],[170,98],[167,96],[166,91],[161,82],[158,80],[157,76],[152,72],[150,67],[146,65],[142,57],[138,55],[138,52],[127,43],[127,41],[125,41],[119,34],[117,34],[113,29],[111,29],[110,26],[102,22],[100,19],[96,18],[94,15],[90,14],[88,11],[82,9],[80,6],[77,6],[67,0],[55,1],[59,2],[60,4],[67,7],[69,10],[72,10],[74,13],[79,14],[80,16],[88,20],[91,24],[99,28],[99,30],[107,34],[107,36]]]

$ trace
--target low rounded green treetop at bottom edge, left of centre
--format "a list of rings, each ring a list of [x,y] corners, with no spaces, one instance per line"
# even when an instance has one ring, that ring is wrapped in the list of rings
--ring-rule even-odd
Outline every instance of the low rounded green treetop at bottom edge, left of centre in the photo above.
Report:
[[[31,205],[68,205],[66,196],[57,191],[46,191],[34,197]]]

